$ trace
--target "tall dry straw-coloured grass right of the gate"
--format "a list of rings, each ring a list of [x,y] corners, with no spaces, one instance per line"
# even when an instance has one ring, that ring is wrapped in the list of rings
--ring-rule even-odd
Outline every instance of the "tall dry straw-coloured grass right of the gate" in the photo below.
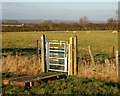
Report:
[[[118,67],[113,63],[96,64],[95,66],[81,64],[78,69],[78,76],[117,82],[117,70]]]

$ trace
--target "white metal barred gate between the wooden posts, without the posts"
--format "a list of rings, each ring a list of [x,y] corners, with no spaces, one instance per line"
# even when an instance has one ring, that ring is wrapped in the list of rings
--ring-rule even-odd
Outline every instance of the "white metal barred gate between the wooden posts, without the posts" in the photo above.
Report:
[[[68,72],[68,42],[46,40],[47,71]]]

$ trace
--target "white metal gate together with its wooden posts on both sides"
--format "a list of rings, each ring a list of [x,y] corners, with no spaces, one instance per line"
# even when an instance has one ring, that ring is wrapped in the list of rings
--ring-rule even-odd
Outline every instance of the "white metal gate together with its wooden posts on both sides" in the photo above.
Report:
[[[43,72],[59,71],[67,72],[68,75],[76,74],[76,42],[76,36],[74,38],[70,37],[70,44],[68,44],[67,41],[45,41],[45,35],[43,35],[41,37],[41,63]]]

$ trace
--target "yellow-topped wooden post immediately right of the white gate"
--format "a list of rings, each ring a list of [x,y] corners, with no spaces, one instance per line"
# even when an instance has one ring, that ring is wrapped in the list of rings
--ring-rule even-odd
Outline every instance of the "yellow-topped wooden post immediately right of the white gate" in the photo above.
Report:
[[[70,37],[70,75],[73,75],[73,37]]]

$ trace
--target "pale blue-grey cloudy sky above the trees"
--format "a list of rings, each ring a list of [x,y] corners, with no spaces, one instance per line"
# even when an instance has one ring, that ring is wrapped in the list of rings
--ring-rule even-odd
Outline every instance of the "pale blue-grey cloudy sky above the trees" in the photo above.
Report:
[[[118,10],[117,0],[114,0],[116,2],[32,2],[33,0],[29,0],[31,2],[3,1],[2,19],[79,20],[81,17],[87,16],[89,20],[107,21],[109,18],[115,18],[116,10]]]

